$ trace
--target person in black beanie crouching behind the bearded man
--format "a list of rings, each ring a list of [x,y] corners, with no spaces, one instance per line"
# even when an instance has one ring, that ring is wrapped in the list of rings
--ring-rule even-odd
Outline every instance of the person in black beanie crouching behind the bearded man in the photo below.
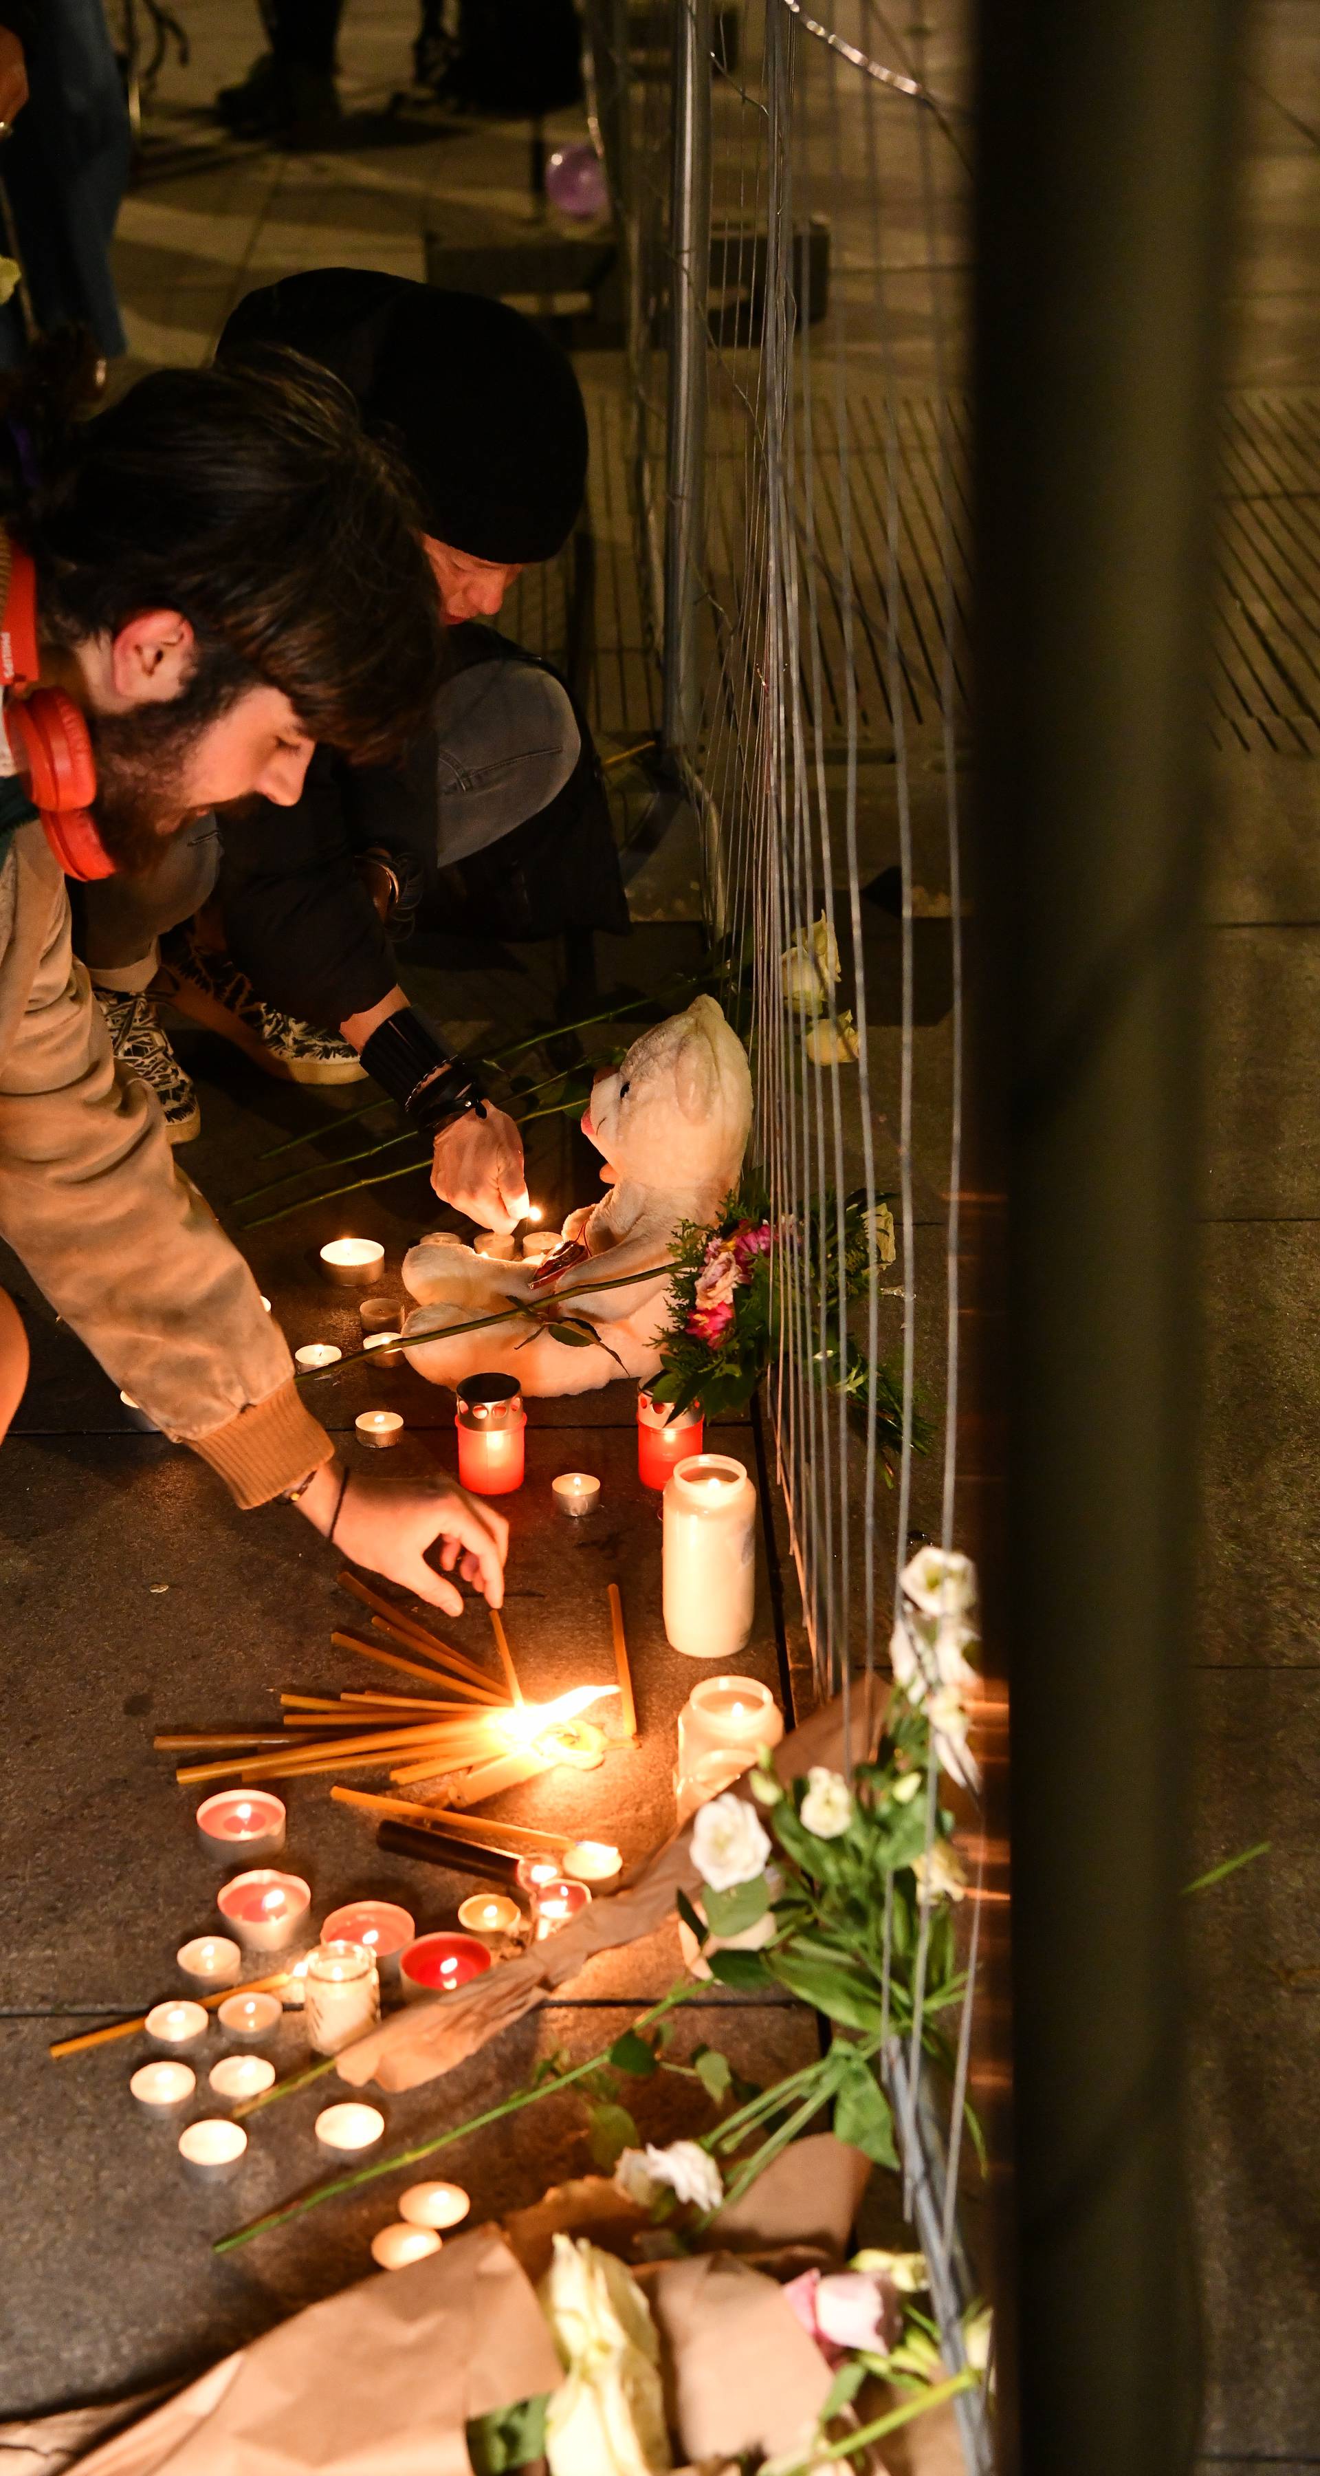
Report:
[[[404,768],[317,750],[277,834],[258,800],[176,837],[154,877],[84,889],[79,951],[124,1065],[154,1084],[176,1141],[201,1117],[154,998],[267,1072],[339,1082],[369,1070],[436,1134],[436,1191],[513,1228],[525,1211],[518,1132],[409,1005],[389,928],[426,894],[458,889],[493,936],[627,931],[584,718],[547,664],[483,624],[572,530],[587,478],[582,394],[567,357],[515,310],[394,275],[327,267],[248,295],[220,357],[265,344],[329,366],[406,461],[453,671]]]

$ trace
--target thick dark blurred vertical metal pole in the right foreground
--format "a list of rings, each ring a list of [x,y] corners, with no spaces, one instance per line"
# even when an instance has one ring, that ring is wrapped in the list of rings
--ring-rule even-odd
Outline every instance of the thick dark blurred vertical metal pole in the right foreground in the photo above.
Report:
[[[1008,1513],[983,1580],[1010,1679],[1023,2476],[1176,2476],[1194,2431],[1181,1666],[1233,15],[978,10],[968,1184],[1005,1201]]]

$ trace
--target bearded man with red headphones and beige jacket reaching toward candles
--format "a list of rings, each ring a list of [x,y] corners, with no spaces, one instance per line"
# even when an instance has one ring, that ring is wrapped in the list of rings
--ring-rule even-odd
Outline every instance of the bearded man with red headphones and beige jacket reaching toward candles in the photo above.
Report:
[[[116,1075],[67,877],[144,867],[191,817],[290,807],[317,740],[391,758],[443,639],[416,508],[357,406],[285,352],[156,371],[74,421],[57,347],[0,394],[0,1238],[243,1508],[285,1498],[451,1614],[498,1604],[508,1528],[461,1488],[347,1478],[255,1280]],[[0,1434],[22,1389],[0,1300]]]

